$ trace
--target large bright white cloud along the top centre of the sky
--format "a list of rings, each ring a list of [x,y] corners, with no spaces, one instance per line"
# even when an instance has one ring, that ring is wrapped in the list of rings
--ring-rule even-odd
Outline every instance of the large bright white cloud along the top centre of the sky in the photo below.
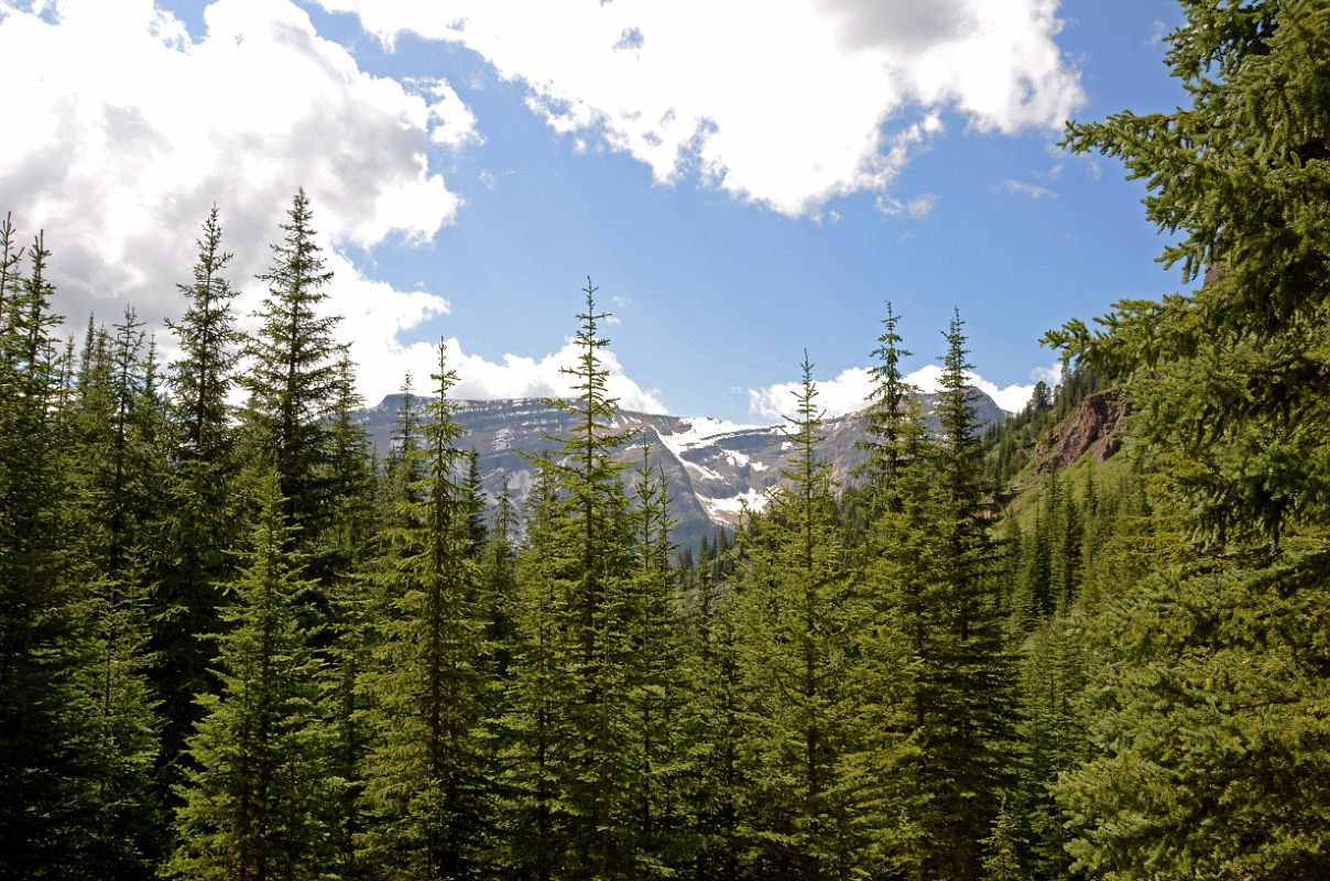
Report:
[[[1083,100],[1059,0],[317,1],[387,45],[473,49],[581,149],[790,216],[884,192],[943,109],[1013,133],[1060,126]]]

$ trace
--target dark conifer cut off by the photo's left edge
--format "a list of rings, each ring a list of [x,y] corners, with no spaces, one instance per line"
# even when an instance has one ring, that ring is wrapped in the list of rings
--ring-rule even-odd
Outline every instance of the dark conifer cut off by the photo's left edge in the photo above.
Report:
[[[77,874],[85,720],[80,644],[64,564],[69,499],[43,236],[0,230],[0,877]],[[24,273],[20,256],[27,258]]]

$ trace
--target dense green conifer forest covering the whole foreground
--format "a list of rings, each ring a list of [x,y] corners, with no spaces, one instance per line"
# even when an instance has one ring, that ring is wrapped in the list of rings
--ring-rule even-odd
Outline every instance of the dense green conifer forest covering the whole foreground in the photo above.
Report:
[[[169,230],[173,359],[55,314],[61,230],[3,206],[0,878],[1330,878],[1330,4],[1182,5],[1186,105],[1064,137],[1194,291],[1049,330],[983,430],[963,317],[886,305],[863,464],[803,355],[793,464],[701,547],[592,279],[576,429],[493,511],[442,345],[372,455],[305,190],[254,333],[225,206]]]

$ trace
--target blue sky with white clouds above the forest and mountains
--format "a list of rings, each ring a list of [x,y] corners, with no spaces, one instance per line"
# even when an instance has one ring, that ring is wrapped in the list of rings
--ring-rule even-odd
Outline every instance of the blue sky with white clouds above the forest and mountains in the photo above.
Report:
[[[863,405],[890,301],[1017,410],[1044,330],[1182,287],[1068,118],[1172,110],[1164,0],[0,0],[0,212],[66,333],[181,314],[218,206],[242,325],[297,188],[368,403],[557,395],[581,289],[625,409]],[[172,338],[157,335],[170,357]]]

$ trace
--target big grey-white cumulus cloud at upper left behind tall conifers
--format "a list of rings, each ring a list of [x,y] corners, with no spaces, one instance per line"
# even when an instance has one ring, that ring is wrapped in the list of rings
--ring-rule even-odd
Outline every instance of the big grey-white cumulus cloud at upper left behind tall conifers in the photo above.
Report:
[[[330,307],[368,362],[447,301],[368,279],[336,249],[426,242],[451,222],[459,198],[426,149],[475,142],[475,118],[443,81],[364,73],[287,0],[217,0],[203,20],[193,40],[152,0],[0,3],[0,209],[47,229],[56,305],[76,323],[126,303],[157,323],[181,311],[174,282],[214,202],[253,306],[303,185],[336,271]]]

